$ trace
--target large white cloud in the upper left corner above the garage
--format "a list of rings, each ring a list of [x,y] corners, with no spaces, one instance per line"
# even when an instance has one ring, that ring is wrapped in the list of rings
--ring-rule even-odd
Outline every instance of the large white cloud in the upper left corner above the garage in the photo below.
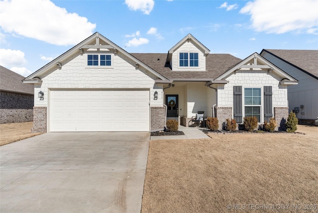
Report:
[[[0,16],[5,32],[56,45],[77,44],[96,27],[86,17],[69,13],[50,0],[0,1]]]

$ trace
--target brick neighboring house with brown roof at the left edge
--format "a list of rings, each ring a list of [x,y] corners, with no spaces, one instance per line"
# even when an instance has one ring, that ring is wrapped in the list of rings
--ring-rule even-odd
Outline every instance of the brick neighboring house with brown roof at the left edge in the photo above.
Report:
[[[0,123],[33,120],[34,87],[23,76],[0,66]]]

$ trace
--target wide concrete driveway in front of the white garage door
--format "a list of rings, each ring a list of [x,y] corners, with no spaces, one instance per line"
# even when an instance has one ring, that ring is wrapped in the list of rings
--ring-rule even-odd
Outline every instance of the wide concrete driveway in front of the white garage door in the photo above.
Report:
[[[150,133],[56,132],[0,147],[0,212],[140,213]]]

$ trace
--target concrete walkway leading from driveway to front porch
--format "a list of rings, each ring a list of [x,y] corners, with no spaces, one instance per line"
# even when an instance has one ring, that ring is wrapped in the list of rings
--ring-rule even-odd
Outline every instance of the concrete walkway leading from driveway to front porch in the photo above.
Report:
[[[206,139],[210,138],[203,131],[202,127],[185,127],[179,126],[179,131],[183,131],[184,135],[167,135],[167,136],[151,136],[151,140],[170,140],[170,139]]]

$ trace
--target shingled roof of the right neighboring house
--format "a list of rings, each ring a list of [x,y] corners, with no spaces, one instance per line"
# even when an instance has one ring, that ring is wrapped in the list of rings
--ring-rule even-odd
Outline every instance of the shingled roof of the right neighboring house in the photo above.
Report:
[[[318,78],[318,50],[264,50]]]

